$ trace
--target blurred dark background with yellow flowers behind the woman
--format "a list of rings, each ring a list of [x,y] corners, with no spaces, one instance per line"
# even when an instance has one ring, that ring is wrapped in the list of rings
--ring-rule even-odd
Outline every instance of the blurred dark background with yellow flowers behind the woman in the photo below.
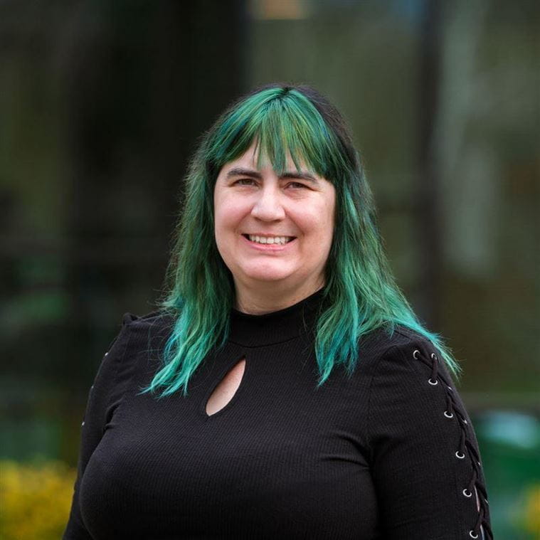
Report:
[[[497,539],[540,538],[540,2],[0,3],[2,538],[53,539],[198,137],[255,85],[349,120],[398,282],[460,359]]]

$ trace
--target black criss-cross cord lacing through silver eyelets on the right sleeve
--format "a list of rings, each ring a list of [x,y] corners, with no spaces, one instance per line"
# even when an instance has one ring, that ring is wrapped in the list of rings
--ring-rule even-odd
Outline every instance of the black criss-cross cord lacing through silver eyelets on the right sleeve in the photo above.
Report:
[[[443,415],[445,418],[456,418],[460,426],[460,442],[457,445],[458,450],[455,452],[455,457],[459,460],[465,459],[469,455],[472,473],[470,482],[462,490],[462,495],[467,497],[467,499],[472,499],[472,495],[476,494],[477,502],[475,501],[475,506],[478,504],[478,519],[475,523],[475,526],[470,529],[469,537],[472,539],[480,540],[493,540],[492,529],[489,526],[489,503],[487,502],[487,491],[482,484],[481,476],[481,467],[480,455],[478,454],[475,445],[467,437],[467,418],[465,418],[465,411],[462,410],[459,403],[455,401],[454,391],[450,385],[450,381],[447,381],[445,376],[442,373],[439,373],[438,370],[438,357],[435,353],[430,354],[430,359],[425,359],[425,356],[418,350],[415,349],[413,352],[413,357],[416,360],[421,360],[424,364],[431,368],[431,376],[428,378],[428,383],[431,386],[438,386],[440,383],[441,386],[445,387],[446,395],[446,407]],[[482,532],[482,538],[480,538],[480,533]]]

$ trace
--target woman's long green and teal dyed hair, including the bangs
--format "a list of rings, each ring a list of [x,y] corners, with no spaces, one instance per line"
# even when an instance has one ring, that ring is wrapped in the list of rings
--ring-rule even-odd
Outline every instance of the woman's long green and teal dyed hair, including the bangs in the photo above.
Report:
[[[376,210],[358,152],[339,112],[306,86],[268,85],[240,98],[204,134],[185,179],[184,207],[159,307],[174,327],[162,368],[143,393],[187,394],[189,378],[229,332],[235,291],[214,238],[213,190],[219,171],[256,142],[277,174],[287,155],[336,190],[334,240],[325,267],[324,310],[315,353],[319,386],[335,366],[356,368],[359,339],[397,324],[428,338],[455,376],[460,367],[438,334],[428,332],[396,285],[376,226]]]

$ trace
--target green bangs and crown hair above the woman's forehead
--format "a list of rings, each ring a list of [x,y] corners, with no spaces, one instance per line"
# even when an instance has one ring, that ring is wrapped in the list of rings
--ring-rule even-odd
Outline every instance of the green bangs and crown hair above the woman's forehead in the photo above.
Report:
[[[263,90],[237,102],[223,115],[208,141],[213,181],[225,164],[240,157],[253,142],[258,168],[266,158],[276,174],[285,172],[290,155],[297,171],[303,162],[335,183],[346,162],[335,134],[297,90]]]

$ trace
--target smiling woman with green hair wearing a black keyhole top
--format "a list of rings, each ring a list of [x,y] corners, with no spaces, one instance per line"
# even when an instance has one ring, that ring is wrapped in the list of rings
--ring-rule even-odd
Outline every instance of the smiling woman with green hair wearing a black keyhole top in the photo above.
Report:
[[[125,315],[90,391],[65,539],[492,539],[458,366],[324,97],[224,112],[177,238],[160,309]]]

